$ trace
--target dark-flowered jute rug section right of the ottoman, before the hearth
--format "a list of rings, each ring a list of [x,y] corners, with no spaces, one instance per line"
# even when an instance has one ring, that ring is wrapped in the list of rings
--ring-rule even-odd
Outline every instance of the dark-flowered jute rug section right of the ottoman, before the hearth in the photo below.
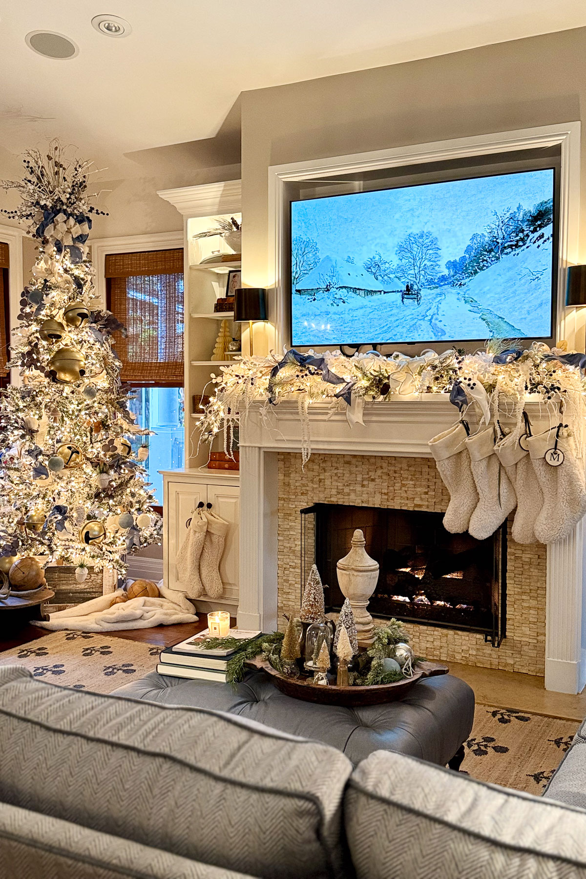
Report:
[[[479,781],[540,795],[577,728],[575,720],[476,705],[461,768]]]

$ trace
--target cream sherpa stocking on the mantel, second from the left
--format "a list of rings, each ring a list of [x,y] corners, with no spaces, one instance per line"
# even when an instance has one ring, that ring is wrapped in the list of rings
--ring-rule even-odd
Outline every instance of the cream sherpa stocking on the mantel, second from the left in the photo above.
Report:
[[[484,541],[503,525],[517,498],[509,476],[495,454],[495,432],[492,425],[474,433],[466,440],[472,474],[479,501],[470,517],[468,531],[477,541]]]

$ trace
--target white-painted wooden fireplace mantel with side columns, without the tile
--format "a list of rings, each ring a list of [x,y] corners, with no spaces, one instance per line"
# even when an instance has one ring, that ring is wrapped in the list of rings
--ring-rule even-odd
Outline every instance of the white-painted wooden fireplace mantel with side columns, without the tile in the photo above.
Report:
[[[539,403],[526,406],[536,431],[548,426]],[[365,425],[348,425],[344,411],[309,407],[312,452],[430,457],[429,439],[454,423],[447,396],[402,397],[366,403]],[[300,452],[297,404],[283,402],[267,413],[253,403],[240,426],[240,604],[238,625],[271,631],[277,626],[278,453]],[[582,647],[582,601],[586,585],[583,519],[573,534],[547,547],[546,689],[579,693],[586,684],[586,635]],[[584,626],[586,632],[586,625]]]

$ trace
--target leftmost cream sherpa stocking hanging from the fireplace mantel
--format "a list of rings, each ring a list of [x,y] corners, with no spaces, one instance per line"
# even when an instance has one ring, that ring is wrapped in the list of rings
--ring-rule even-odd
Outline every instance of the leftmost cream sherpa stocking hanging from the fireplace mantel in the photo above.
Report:
[[[452,534],[466,531],[470,516],[478,505],[478,492],[474,484],[470,458],[464,440],[467,432],[462,424],[438,433],[428,445],[436,459],[439,476],[450,492],[450,503],[445,511],[444,527]]]

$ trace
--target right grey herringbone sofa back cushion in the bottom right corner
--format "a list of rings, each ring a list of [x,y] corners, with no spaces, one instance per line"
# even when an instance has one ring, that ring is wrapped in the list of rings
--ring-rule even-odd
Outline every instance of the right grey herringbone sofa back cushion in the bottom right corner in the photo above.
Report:
[[[586,879],[586,811],[377,751],[344,798],[358,879]]]

